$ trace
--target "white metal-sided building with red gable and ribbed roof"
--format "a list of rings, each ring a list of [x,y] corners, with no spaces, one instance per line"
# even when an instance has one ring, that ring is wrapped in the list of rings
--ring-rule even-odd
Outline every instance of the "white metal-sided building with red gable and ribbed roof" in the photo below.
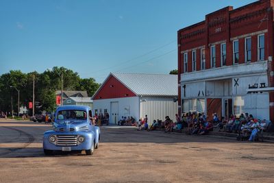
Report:
[[[110,114],[110,123],[121,117],[153,119],[177,113],[177,75],[110,73],[93,95],[95,114]]]

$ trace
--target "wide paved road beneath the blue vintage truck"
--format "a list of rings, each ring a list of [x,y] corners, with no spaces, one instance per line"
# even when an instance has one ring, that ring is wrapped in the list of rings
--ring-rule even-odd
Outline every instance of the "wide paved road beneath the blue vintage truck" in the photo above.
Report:
[[[92,156],[44,156],[51,125],[0,121],[0,182],[273,182],[274,145],[102,127]]]

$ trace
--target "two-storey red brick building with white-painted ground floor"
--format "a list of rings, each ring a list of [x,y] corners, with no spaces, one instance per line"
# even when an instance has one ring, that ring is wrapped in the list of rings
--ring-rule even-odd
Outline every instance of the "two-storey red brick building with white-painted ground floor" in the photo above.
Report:
[[[248,112],[274,121],[273,6],[228,6],[177,32],[182,113]]]

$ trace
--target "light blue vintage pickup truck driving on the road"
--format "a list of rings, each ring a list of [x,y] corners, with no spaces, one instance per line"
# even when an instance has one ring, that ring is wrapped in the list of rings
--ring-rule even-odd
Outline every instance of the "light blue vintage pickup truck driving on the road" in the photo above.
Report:
[[[60,106],[56,109],[53,130],[44,133],[46,155],[53,151],[82,151],[92,155],[99,147],[100,128],[92,123],[88,106]]]

